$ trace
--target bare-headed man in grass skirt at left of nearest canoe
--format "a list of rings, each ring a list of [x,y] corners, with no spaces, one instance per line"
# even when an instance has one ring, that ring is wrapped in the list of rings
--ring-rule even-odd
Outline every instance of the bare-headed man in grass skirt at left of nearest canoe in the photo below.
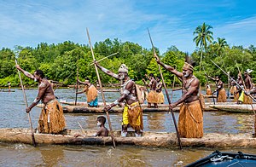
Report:
[[[32,102],[30,107],[26,108],[26,112],[30,112],[32,107],[35,107],[39,101],[44,103],[44,107],[38,120],[38,132],[44,134],[58,134],[64,130],[66,121],[63,115],[62,107],[55,99],[54,91],[46,78],[44,78],[44,72],[36,70],[32,75],[26,72],[19,65],[16,68],[23,72],[27,78],[32,78],[35,82],[38,82],[38,96]]]

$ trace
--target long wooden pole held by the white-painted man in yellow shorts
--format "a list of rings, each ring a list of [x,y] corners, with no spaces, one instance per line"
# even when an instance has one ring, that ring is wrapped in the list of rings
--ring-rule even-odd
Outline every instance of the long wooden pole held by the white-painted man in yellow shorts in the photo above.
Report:
[[[87,37],[88,37],[88,41],[89,41],[89,44],[90,44],[90,51],[91,51],[92,58],[93,58],[94,61],[96,61],[95,56],[94,56],[94,52],[93,52],[93,49],[92,49],[92,45],[90,43],[90,35],[89,35],[88,28],[86,28],[86,32],[87,32]],[[100,75],[99,75],[98,68],[97,68],[96,64],[94,64],[94,66],[95,66],[96,75],[97,75],[98,82],[100,84],[100,88],[101,88],[101,92],[102,92],[102,101],[103,101],[104,107],[106,107],[105,95],[104,95],[104,92],[103,92],[103,89],[102,89],[102,81],[101,81],[101,78],[100,78]],[[113,147],[115,148],[115,141],[114,141],[114,136],[113,136],[113,130],[112,130],[112,125],[111,125],[111,122],[110,122],[108,111],[106,111],[106,114],[107,114],[107,118],[108,118],[108,125],[109,125],[109,130],[110,130],[111,138],[112,138],[112,141],[113,141]]]

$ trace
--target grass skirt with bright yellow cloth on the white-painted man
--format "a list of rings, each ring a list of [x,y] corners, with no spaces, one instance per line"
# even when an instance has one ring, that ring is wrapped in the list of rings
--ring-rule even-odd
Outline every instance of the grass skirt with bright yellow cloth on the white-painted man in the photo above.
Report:
[[[143,109],[138,102],[125,105],[122,124],[129,124],[134,130],[143,130]]]

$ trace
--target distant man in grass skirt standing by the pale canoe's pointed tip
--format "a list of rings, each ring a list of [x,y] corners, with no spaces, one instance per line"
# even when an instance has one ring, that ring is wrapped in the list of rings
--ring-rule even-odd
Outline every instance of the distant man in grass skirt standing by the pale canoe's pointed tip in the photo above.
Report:
[[[220,80],[220,78],[218,76],[215,78],[212,78],[208,75],[207,75],[207,77],[211,78],[216,83],[216,89],[213,91],[213,94],[214,94],[214,92],[217,92],[217,102],[226,102],[227,95],[226,95],[226,91],[223,87],[223,82]]]

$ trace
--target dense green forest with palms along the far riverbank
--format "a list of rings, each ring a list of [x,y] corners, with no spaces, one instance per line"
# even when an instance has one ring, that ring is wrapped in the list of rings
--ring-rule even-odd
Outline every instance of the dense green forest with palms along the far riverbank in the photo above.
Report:
[[[230,76],[236,78],[238,68],[241,72],[252,69],[252,78],[256,78],[256,48],[251,45],[248,48],[243,46],[230,46],[224,37],[213,38],[212,26],[203,23],[195,28],[194,39],[195,51],[189,54],[191,60],[195,62],[194,74],[200,79],[201,84],[207,83],[205,73],[212,77],[219,76],[224,83],[228,82],[227,76],[221,72],[217,66],[212,64],[214,61],[222,67],[225,72],[230,72]],[[149,41],[148,41],[149,43]],[[156,52],[160,59],[170,66],[177,66],[178,71],[182,71],[186,52],[177,49],[176,46],[170,46],[166,52],[160,54]],[[142,82],[142,78],[147,73],[160,75],[158,66],[154,60],[153,49],[145,49],[139,43],[122,42],[118,38],[106,39],[96,42],[93,45],[96,60],[117,53],[99,62],[101,66],[106,67],[112,72],[118,72],[119,66],[125,63],[129,68],[129,76],[137,83]],[[163,50],[161,50],[163,52]],[[21,68],[27,72],[33,73],[36,69],[44,72],[50,80],[64,82],[64,85],[76,83],[77,70],[79,79],[84,80],[88,77],[91,83],[96,83],[95,66],[90,52],[90,46],[66,41],[63,43],[39,43],[36,48],[15,46],[15,49],[3,48],[0,50],[0,86],[6,86],[8,82],[12,86],[19,86],[20,80],[17,69],[15,68],[15,59]],[[212,60],[212,61],[211,61]],[[99,71],[100,72],[100,71]],[[173,75],[162,69],[166,85],[171,86]],[[102,83],[118,83],[114,78],[100,72]],[[30,86],[36,86],[32,79],[21,75],[23,83]],[[176,82],[177,79],[176,79]]]

